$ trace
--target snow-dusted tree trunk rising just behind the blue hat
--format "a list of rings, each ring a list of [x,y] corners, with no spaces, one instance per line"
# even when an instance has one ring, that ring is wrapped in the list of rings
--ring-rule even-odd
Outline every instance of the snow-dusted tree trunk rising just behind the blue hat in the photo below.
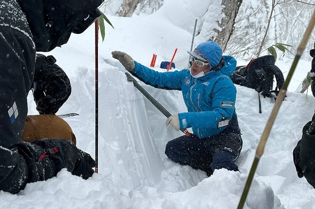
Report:
[[[227,42],[233,33],[235,18],[242,2],[243,0],[222,0],[222,5],[225,6],[223,8],[225,17],[221,20],[221,23],[219,23],[219,26],[222,28],[222,30],[219,31],[215,29],[215,31],[218,33],[218,36],[216,38],[210,38],[209,41],[216,41],[216,43],[221,46],[223,51],[225,50]]]

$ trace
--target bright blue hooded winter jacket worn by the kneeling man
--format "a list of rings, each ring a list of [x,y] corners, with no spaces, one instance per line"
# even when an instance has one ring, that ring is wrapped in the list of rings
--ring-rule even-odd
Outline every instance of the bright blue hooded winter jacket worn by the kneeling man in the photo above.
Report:
[[[237,117],[236,87],[228,77],[236,68],[236,60],[231,56],[224,58],[224,66],[219,71],[210,71],[201,78],[193,78],[188,69],[161,73],[136,61],[131,73],[154,87],[181,90],[188,112],[178,113],[180,129],[192,128],[194,134],[204,138],[219,134],[227,127],[219,128],[222,119],[231,120],[233,114]],[[236,126],[239,130],[237,119]]]

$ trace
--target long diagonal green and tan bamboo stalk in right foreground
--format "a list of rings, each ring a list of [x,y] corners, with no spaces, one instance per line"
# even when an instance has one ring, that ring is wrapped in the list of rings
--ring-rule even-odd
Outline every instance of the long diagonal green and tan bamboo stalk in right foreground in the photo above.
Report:
[[[259,162],[259,159],[264,152],[265,145],[267,143],[267,139],[268,139],[268,136],[270,134],[271,128],[272,128],[272,126],[273,126],[273,124],[277,118],[278,111],[279,111],[280,106],[284,100],[287,86],[290,83],[290,80],[291,80],[293,73],[296,69],[297,63],[300,60],[301,55],[303,54],[303,52],[305,50],[306,44],[307,44],[307,42],[310,38],[310,35],[313,31],[314,25],[315,25],[315,10],[313,12],[313,16],[310,20],[310,23],[309,23],[308,27],[306,28],[306,31],[305,31],[304,36],[302,38],[302,41],[301,41],[299,47],[297,48],[297,52],[295,54],[292,66],[291,66],[290,71],[289,71],[289,73],[288,73],[288,75],[284,81],[282,88],[280,89],[278,98],[276,100],[276,103],[275,103],[272,111],[271,111],[271,114],[269,116],[269,119],[267,121],[265,129],[262,132],[259,144],[258,144],[257,149],[256,149],[256,155],[255,155],[255,158],[254,158],[253,163],[252,163],[252,168],[251,168],[249,176],[247,178],[247,181],[246,181],[246,184],[245,184],[245,187],[244,187],[244,190],[243,190],[243,193],[242,193],[242,196],[241,196],[241,199],[240,199],[240,202],[239,202],[237,209],[243,209],[243,207],[244,207],[248,192],[249,192],[251,184],[252,184],[252,179],[253,179],[253,176],[255,174],[258,162]]]

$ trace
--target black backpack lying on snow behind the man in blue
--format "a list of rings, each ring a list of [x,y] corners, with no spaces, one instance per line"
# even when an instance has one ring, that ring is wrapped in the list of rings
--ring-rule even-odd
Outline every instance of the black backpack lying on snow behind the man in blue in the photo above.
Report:
[[[273,90],[274,77],[277,86]],[[265,55],[251,59],[247,66],[236,67],[230,76],[233,83],[255,89],[265,97],[277,98],[278,92],[284,84],[284,76],[275,65],[273,55]],[[279,90],[278,90],[279,89]]]

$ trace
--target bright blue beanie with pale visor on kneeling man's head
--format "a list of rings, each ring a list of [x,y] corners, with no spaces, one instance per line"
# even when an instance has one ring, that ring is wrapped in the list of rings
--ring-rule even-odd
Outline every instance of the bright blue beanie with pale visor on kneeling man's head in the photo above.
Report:
[[[188,53],[196,59],[209,62],[211,67],[219,65],[222,58],[221,47],[213,41],[203,42],[194,51],[188,51]]]

